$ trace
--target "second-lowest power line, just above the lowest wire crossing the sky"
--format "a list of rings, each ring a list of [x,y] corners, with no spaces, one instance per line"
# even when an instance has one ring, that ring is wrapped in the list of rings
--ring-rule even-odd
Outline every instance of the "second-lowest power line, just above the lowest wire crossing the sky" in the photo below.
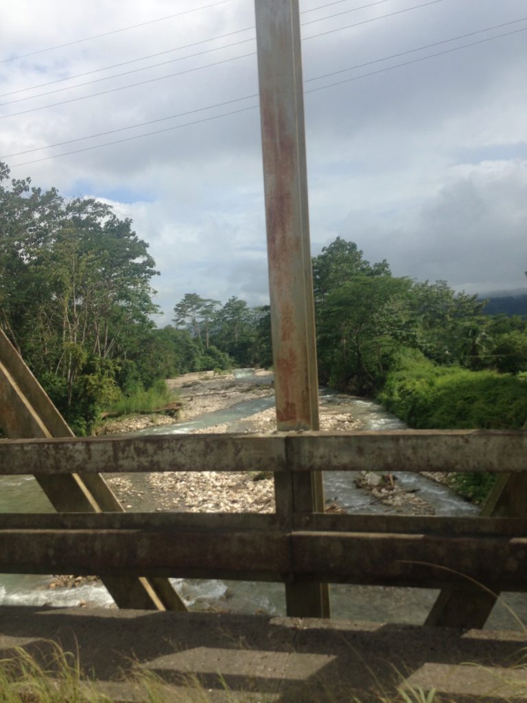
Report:
[[[424,44],[423,46],[417,46],[415,49],[407,49],[406,51],[392,53],[389,56],[383,56],[382,58],[376,58],[371,61],[366,61],[365,63],[358,63],[354,66],[342,68],[340,70],[332,71],[330,73],[325,73],[320,76],[307,78],[304,80],[304,83],[311,83],[312,81],[317,81],[322,78],[327,78],[330,76],[339,75],[339,73],[344,73],[347,71],[356,70],[357,68],[364,68],[366,66],[374,65],[375,63],[381,63],[382,61],[388,61],[393,58],[400,58],[401,56],[408,56],[408,54],[415,53],[416,51],[424,51],[425,49],[432,49],[434,46],[441,46],[441,44],[447,44],[450,41],[458,41],[459,39],[467,39],[467,37],[474,37],[475,34],[489,32],[490,30],[497,30],[502,27],[507,27],[510,25],[517,24],[518,22],[524,22],[526,20],[527,20],[527,17],[523,17],[523,18],[519,18],[517,20],[512,20],[510,22],[503,22],[500,25],[493,25],[491,27],[485,27],[482,30],[474,30],[474,32],[467,32],[466,34],[458,34],[457,37],[450,37],[450,39],[442,39],[441,41],[434,41],[433,44]],[[523,32],[524,30],[519,30],[519,31]],[[497,36],[500,36],[500,37],[507,36],[507,34],[500,34]],[[483,41],[488,41],[490,39],[496,39],[496,38],[497,37],[489,37],[488,39],[485,39]],[[469,44],[467,46],[472,46],[472,44]],[[456,50],[461,49],[461,48],[463,48],[463,47],[456,47]],[[433,56],[436,56],[436,55],[434,54]],[[427,58],[427,57],[422,57],[423,60],[424,60],[424,58]],[[384,69],[384,70],[386,70],[386,69]],[[311,91],[306,91],[306,92],[311,92]],[[250,98],[257,98],[257,97],[258,97],[258,93],[254,93],[252,95],[243,96],[242,98],[234,98],[233,100],[223,101],[222,103],[216,103],[215,105],[207,105],[204,108],[196,108],[195,110],[188,110],[186,112],[179,112],[176,115],[167,115],[167,117],[158,117],[156,120],[148,120],[146,122],[138,122],[137,124],[130,124],[127,127],[117,127],[116,129],[109,129],[108,131],[98,132],[97,134],[90,134],[88,136],[82,136],[82,137],[78,137],[78,138],[74,138],[74,139],[68,139],[67,141],[61,141],[61,142],[57,142],[55,144],[48,144],[47,146],[43,146],[43,147],[26,149],[24,151],[18,151],[18,152],[12,153],[12,154],[6,154],[4,156],[1,156],[0,158],[6,159],[6,158],[11,158],[13,156],[21,156],[22,154],[29,154],[29,153],[33,153],[35,151],[41,151],[42,149],[51,149],[56,146],[65,146],[66,144],[72,144],[77,141],[84,141],[85,139],[93,139],[93,138],[96,138],[99,136],[108,136],[108,134],[116,134],[119,131],[126,131],[126,129],[136,129],[137,127],[146,127],[148,124],[155,124],[156,122],[164,122],[165,120],[174,120],[176,117],[184,117],[186,115],[191,115],[195,112],[202,112],[204,110],[212,110],[214,108],[221,108],[226,105],[231,105],[233,103],[238,103],[243,100],[249,100]]]

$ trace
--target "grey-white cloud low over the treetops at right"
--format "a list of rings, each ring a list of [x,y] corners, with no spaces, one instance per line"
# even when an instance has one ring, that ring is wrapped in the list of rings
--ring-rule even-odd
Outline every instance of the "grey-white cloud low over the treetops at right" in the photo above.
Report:
[[[455,288],[519,288],[527,268],[527,161],[460,165],[419,208],[350,212],[338,231],[398,276],[448,278]],[[448,276],[445,274],[448,273]]]

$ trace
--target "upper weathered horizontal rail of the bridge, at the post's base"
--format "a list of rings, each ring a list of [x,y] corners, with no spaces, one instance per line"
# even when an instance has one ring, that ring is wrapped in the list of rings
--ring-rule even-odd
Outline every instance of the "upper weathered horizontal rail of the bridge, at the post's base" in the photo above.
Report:
[[[527,431],[408,430],[0,441],[0,475],[147,471],[527,471]]]

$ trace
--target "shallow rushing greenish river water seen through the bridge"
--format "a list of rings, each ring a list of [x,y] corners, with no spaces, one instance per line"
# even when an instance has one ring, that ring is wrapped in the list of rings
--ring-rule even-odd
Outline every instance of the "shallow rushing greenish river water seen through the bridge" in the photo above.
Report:
[[[238,378],[247,378],[240,370]],[[183,434],[228,423],[229,430],[245,430],[247,419],[274,404],[274,398],[264,397],[243,401],[235,406],[212,413],[204,413],[189,422],[164,425],[148,430],[155,434]],[[338,406],[339,412],[349,413],[360,420],[365,430],[401,430],[405,425],[382,406],[365,399],[320,390],[320,404]],[[448,487],[421,475],[397,472],[398,489],[414,491],[431,505],[435,515],[477,515],[478,508],[467,503]],[[141,477],[136,477],[141,481]],[[146,484],[141,481],[141,486]],[[389,507],[373,501],[371,494],[358,489],[349,472],[328,472],[324,475],[325,495],[337,498],[346,512],[379,513]],[[148,504],[148,494],[145,496]],[[144,509],[144,508],[143,508]],[[150,509],[154,509],[150,505]],[[0,512],[51,512],[51,505],[32,477],[0,478]],[[77,588],[49,590],[49,576],[19,574],[0,575],[0,603],[3,605],[93,605],[110,606],[112,599],[98,583],[85,583]],[[240,581],[207,581],[173,579],[174,586],[188,606],[196,610],[229,610],[231,612],[261,612],[285,614],[284,587],[281,583],[247,583]],[[380,586],[330,586],[332,617],[377,622],[422,624],[437,595],[437,591],[422,588],[388,588]],[[527,596],[508,593],[498,602],[488,619],[486,628],[517,629],[519,623],[512,616],[527,622]]]

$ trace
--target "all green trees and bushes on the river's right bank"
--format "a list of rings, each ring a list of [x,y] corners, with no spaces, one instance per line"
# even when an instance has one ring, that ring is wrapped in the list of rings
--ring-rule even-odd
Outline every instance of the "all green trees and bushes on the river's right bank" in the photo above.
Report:
[[[445,281],[391,276],[338,239],[313,259],[320,378],[377,396],[416,429],[516,430],[527,420],[527,321],[487,316]],[[453,477],[482,502],[493,475]]]

